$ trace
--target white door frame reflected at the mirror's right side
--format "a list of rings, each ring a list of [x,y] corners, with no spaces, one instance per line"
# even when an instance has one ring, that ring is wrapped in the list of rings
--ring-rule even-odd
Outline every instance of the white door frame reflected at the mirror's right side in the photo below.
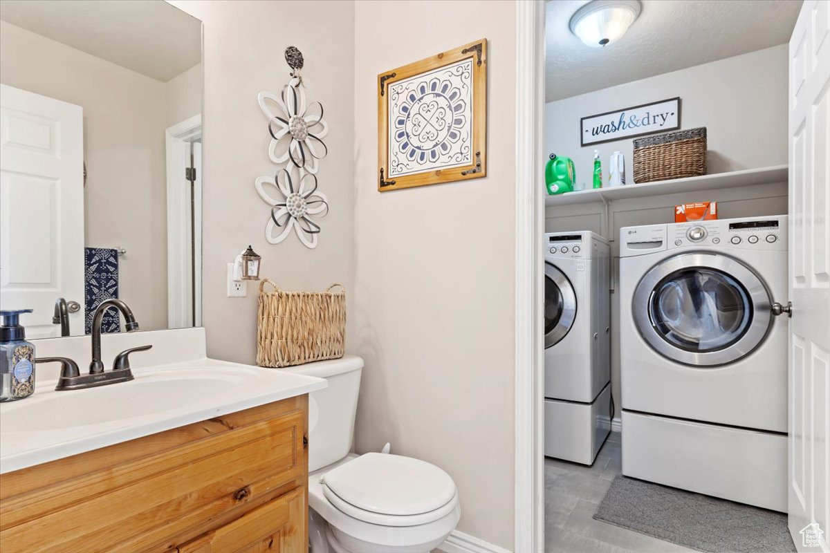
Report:
[[[191,294],[188,293],[189,276],[191,273],[191,261],[188,255],[187,242],[190,237],[190,225],[186,217],[183,217],[185,206],[188,205],[190,197],[187,187],[183,186],[186,181],[182,167],[188,167],[190,160],[180,148],[182,143],[193,142],[202,138],[202,115],[193,115],[181,123],[174,124],[164,131],[165,163],[167,166],[167,317],[169,328],[201,327],[201,306],[197,305],[194,321],[190,321],[192,306],[190,303]],[[202,167],[197,168],[202,172]],[[199,177],[201,180],[201,177]],[[196,191],[194,198],[197,206],[201,206],[201,187]],[[197,245],[198,252],[193,252],[196,257],[193,282],[196,283],[196,300],[201,303],[200,283],[202,282],[202,263],[200,260],[202,243],[202,210],[197,209],[193,214],[193,243]]]

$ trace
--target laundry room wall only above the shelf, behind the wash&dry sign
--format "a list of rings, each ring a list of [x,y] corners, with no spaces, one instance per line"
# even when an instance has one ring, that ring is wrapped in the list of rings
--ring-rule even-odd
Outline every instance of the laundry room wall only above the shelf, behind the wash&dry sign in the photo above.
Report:
[[[608,158],[619,150],[625,155],[627,182],[632,182],[633,139],[581,148],[579,119],[676,96],[681,98],[681,129],[706,127],[706,172],[787,163],[786,44],[549,102],[545,154],[572,158],[577,181],[591,187],[594,148],[603,161],[605,182]]]

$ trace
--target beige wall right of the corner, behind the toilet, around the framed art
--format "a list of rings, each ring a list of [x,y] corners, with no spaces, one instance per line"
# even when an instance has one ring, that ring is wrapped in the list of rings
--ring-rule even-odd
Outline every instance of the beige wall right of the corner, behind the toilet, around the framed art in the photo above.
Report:
[[[484,37],[487,177],[378,192],[378,74]],[[356,2],[354,56],[357,449],[444,468],[512,549],[515,2]]]

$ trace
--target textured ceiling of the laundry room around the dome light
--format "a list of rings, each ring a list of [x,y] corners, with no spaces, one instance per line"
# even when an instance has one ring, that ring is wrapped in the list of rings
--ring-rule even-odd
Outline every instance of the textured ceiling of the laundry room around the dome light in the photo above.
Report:
[[[802,0],[641,0],[642,12],[618,42],[583,45],[569,28],[587,0],[546,5],[545,99],[569,98],[784,44]]]

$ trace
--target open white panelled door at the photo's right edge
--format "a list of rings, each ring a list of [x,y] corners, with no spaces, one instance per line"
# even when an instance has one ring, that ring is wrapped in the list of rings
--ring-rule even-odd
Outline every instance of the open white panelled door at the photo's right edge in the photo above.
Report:
[[[789,42],[789,531],[830,551],[830,10],[806,0]]]

